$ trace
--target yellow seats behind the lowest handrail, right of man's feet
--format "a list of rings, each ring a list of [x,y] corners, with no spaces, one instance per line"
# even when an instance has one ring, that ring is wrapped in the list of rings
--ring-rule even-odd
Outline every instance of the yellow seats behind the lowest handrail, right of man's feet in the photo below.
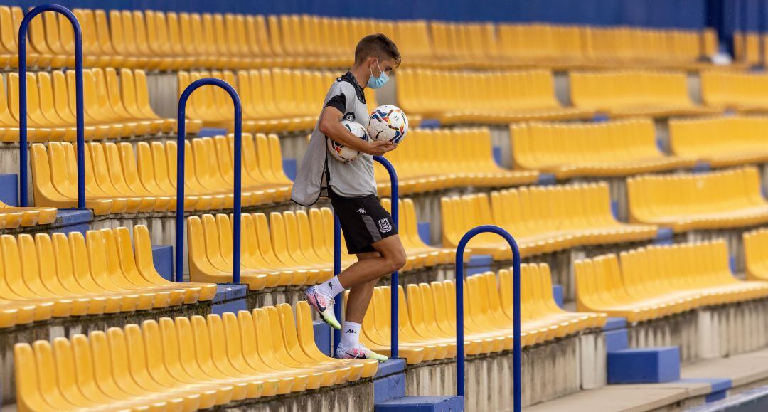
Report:
[[[563,311],[554,303],[547,264],[521,265],[521,345],[551,341],[603,327],[597,313]],[[409,284],[399,293],[399,351],[409,364],[456,356],[455,281]],[[390,287],[376,287],[362,321],[361,341],[380,353],[390,351]],[[511,269],[465,279],[465,353],[508,351],[512,347]]]

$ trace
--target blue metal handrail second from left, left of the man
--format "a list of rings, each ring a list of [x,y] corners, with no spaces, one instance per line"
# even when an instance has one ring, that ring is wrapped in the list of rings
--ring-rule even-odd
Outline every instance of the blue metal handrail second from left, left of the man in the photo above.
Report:
[[[186,112],[187,100],[192,92],[201,86],[217,86],[232,98],[235,116],[235,141],[234,141],[234,204],[233,204],[233,224],[232,224],[232,283],[240,283],[240,213],[241,201],[243,198],[242,169],[243,169],[243,110],[240,103],[240,96],[237,91],[220,78],[200,78],[193,81],[191,85],[181,93],[179,98],[179,108],[177,112],[178,138],[176,148],[176,281],[184,281],[184,145],[185,135],[187,135]]]

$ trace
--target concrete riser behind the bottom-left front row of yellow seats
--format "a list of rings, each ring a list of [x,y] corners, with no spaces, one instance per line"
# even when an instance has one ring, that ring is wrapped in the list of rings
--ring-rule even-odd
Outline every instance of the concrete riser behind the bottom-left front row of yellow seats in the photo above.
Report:
[[[141,324],[143,321],[161,317],[206,316],[211,313],[211,302],[184,304],[180,307],[136,311],[134,313],[105,314],[101,316],[68,317],[52,319],[28,326],[12,327],[0,331],[0,389],[2,404],[12,404],[16,397],[13,347],[18,343],[53,341],[57,337],[72,337],[93,331],[106,331],[110,327],[124,327],[127,324]]]

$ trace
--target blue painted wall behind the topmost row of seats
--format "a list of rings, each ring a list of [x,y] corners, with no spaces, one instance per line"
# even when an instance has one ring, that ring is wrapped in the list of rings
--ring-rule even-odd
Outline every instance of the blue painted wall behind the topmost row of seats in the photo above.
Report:
[[[67,7],[702,28],[709,0],[53,0]],[[729,0],[717,0],[727,2]],[[734,0],[731,0],[734,1]],[[753,0],[759,1],[759,0]],[[39,5],[44,0],[0,0]],[[386,7],[382,7],[386,5]]]

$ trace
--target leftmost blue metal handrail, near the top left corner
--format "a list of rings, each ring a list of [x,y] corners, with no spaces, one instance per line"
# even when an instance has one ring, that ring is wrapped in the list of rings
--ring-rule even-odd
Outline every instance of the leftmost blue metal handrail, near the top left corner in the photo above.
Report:
[[[74,30],[74,93],[78,142],[78,209],[85,208],[85,138],[83,115],[83,35],[78,18],[63,5],[38,5],[32,8],[18,27],[18,203],[29,205],[27,198],[27,32],[29,23],[42,12],[65,15]]]

